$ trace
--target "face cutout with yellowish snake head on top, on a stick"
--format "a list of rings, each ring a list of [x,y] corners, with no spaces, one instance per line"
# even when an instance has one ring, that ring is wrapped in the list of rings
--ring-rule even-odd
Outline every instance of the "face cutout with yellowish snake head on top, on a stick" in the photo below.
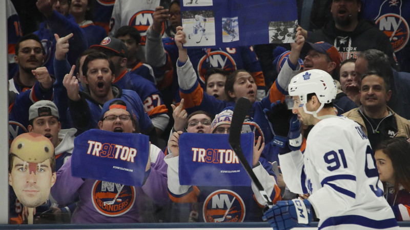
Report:
[[[46,202],[56,179],[50,140],[37,133],[23,133],[11,143],[10,155],[9,184],[17,199],[27,207]]]

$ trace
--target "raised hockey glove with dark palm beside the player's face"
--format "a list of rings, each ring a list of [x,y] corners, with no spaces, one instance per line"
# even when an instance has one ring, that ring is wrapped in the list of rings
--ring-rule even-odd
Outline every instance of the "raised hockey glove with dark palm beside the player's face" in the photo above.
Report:
[[[292,110],[280,101],[272,103],[271,107],[272,111],[263,110],[274,135],[271,144],[285,149],[289,147],[292,151],[299,150],[302,145],[302,135],[297,115],[293,114]]]

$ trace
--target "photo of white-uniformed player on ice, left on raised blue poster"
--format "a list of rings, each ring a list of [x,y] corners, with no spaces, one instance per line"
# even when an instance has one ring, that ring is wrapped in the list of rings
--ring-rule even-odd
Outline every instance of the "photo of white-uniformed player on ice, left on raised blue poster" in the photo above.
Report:
[[[182,27],[187,35],[184,47],[216,45],[213,10],[182,11]]]

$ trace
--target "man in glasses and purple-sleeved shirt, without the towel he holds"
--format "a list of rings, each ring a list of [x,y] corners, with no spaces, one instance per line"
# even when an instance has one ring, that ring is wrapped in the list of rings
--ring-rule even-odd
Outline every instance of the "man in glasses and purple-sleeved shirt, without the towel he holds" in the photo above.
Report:
[[[104,104],[100,112],[98,127],[112,132],[138,132],[139,125],[132,116],[134,111],[124,100],[113,99]],[[95,202],[96,199],[113,196],[109,182],[82,179],[71,176],[71,158],[57,172],[57,183],[51,196],[59,203],[71,203],[79,198],[72,223],[138,223],[154,222],[152,204],[166,205],[167,165],[163,152],[150,145],[150,158],[145,170],[145,183],[141,187],[124,184],[112,185],[121,192],[121,200],[112,204]],[[101,168],[109,170],[109,168]],[[67,185],[70,186],[67,186]],[[105,186],[107,185],[107,186]],[[120,187],[120,189],[118,189]],[[115,189],[115,188],[113,188]]]

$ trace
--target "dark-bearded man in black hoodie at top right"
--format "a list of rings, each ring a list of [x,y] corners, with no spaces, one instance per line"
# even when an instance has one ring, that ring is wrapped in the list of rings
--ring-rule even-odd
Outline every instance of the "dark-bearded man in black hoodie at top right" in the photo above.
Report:
[[[371,22],[360,20],[361,5],[360,0],[333,0],[333,20],[322,29],[309,33],[306,40],[333,44],[342,61],[357,58],[358,51],[378,49],[389,56],[392,66],[396,68],[397,62],[393,58],[393,48],[388,37]]]

